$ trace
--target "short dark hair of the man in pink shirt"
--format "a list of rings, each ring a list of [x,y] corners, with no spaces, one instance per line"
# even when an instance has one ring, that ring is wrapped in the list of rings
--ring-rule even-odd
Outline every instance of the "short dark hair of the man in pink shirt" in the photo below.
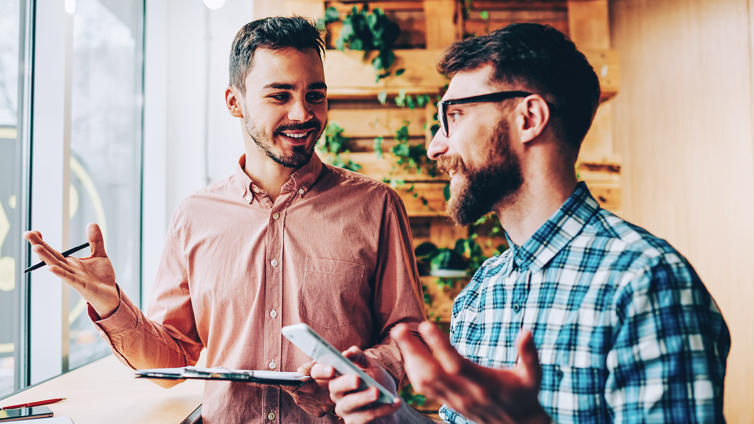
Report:
[[[252,66],[254,51],[257,48],[283,50],[295,48],[304,50],[313,48],[322,58],[325,43],[320,30],[314,22],[305,17],[265,17],[244,25],[233,39],[231,45],[229,85],[246,94],[247,75]]]

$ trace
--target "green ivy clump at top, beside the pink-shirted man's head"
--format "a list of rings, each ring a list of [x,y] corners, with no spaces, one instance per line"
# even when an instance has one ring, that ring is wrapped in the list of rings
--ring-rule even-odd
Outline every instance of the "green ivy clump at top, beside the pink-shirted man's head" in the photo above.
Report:
[[[325,11],[324,22],[338,20],[336,8],[328,8]],[[369,51],[377,51],[377,56],[372,59],[372,67],[375,69],[377,82],[392,74],[391,66],[395,62],[393,46],[400,35],[400,26],[394,23],[381,8],[369,11],[369,6],[364,4],[359,10],[356,6],[343,19],[343,27],[336,40],[336,48],[340,51],[349,48],[363,51],[366,60]],[[397,69],[395,75],[401,75],[406,69]]]

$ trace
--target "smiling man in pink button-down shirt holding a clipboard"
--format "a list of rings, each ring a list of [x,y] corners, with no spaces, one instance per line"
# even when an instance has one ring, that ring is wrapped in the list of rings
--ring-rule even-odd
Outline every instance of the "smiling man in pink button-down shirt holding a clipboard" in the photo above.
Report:
[[[406,210],[385,184],[313,154],[327,115],[323,47],[302,17],[255,20],[236,35],[225,101],[245,155],[231,177],[176,208],[146,315],[118,289],[96,224],[81,259],[63,258],[39,232],[24,235],[87,300],[124,364],[183,367],[206,348],[208,367],[308,373],[311,359],[280,335],[305,322],[403,382],[390,330],[416,331],[425,319]],[[208,380],[202,415],[210,424],[336,422],[333,407],[326,382],[287,392]]]

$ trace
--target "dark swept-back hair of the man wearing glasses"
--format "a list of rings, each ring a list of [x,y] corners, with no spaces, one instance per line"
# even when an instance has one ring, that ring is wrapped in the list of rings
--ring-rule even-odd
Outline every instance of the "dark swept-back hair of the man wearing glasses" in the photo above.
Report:
[[[440,58],[437,70],[452,77],[488,63],[495,67],[494,81],[524,84],[526,91],[553,97],[553,115],[578,154],[599,106],[599,79],[573,41],[552,26],[513,23],[456,41]]]

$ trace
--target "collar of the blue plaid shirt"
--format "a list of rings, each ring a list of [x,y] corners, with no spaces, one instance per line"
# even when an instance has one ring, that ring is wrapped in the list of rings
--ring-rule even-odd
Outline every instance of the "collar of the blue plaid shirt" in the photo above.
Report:
[[[565,203],[523,245],[516,246],[507,232],[505,238],[513,260],[520,269],[536,272],[578,235],[599,210],[587,184],[581,181]]]

